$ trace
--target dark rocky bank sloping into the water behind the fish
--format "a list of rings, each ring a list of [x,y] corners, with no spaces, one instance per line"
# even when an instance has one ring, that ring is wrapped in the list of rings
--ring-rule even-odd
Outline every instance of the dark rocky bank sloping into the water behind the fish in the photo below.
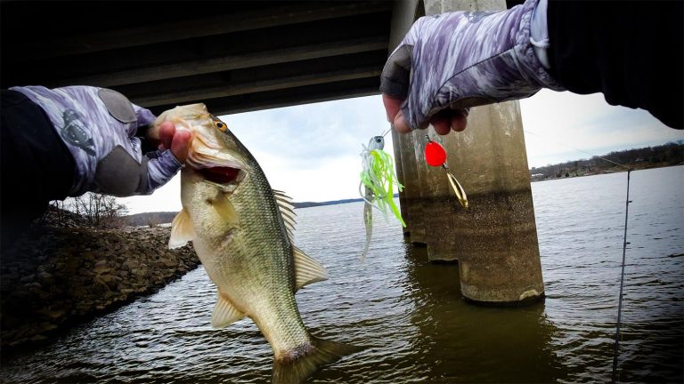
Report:
[[[30,228],[0,264],[2,349],[48,340],[196,268],[191,246],[167,249],[169,235],[170,228]]]

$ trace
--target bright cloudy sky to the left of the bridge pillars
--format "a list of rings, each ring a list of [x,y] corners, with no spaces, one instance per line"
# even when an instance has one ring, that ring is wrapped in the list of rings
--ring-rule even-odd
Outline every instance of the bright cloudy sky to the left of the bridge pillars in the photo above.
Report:
[[[272,188],[295,201],[359,196],[362,144],[389,128],[379,95],[220,118],[255,156]],[[391,134],[385,148],[394,156]],[[120,200],[131,212],[180,210],[179,179],[152,196]]]

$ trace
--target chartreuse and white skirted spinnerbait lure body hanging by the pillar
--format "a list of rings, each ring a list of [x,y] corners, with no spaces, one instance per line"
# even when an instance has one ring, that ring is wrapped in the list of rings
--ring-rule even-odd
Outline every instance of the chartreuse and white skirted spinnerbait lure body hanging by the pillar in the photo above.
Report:
[[[368,147],[363,146],[361,152],[362,172],[361,183],[359,184],[359,194],[365,200],[363,205],[363,222],[366,226],[366,244],[363,246],[361,260],[365,260],[368,247],[371,244],[373,232],[373,212],[372,208],[378,209],[387,220],[387,210],[391,210],[403,227],[402,213],[397,208],[394,197],[394,186],[399,191],[403,190],[403,185],[396,180],[395,168],[392,164],[392,156],[383,150],[385,139],[382,136],[374,136],[368,143]],[[361,188],[364,187],[364,192]]]

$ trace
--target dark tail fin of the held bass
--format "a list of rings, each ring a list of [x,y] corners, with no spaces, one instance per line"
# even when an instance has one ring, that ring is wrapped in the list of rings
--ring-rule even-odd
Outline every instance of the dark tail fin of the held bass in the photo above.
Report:
[[[312,336],[311,344],[276,356],[273,361],[273,384],[301,383],[323,365],[338,361],[342,356],[362,351],[363,348]]]

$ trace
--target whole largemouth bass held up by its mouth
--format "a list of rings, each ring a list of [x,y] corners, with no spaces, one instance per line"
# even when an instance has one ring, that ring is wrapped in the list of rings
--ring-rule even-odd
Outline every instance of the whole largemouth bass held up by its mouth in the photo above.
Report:
[[[191,132],[181,172],[183,210],[175,217],[169,247],[192,241],[216,284],[211,324],[216,328],[250,317],[273,349],[276,383],[301,382],[324,364],[362,348],[322,340],[305,328],[295,292],[328,278],[325,268],[292,243],[294,207],[273,190],[248,149],[204,104],[162,113]]]

